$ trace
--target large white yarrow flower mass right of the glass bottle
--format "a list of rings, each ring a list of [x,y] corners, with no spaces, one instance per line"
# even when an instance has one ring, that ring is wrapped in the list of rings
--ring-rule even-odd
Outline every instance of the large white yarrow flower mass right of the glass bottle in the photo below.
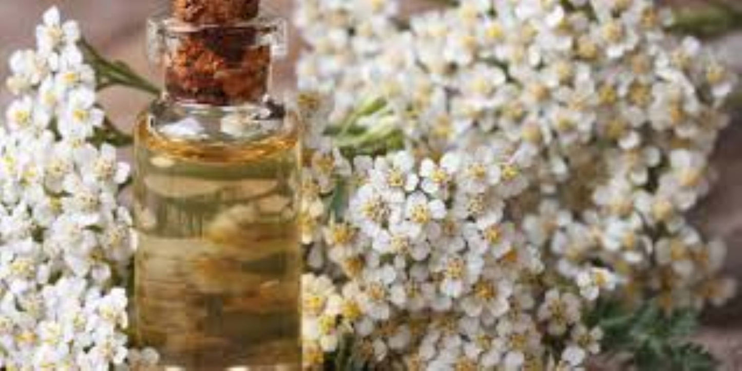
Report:
[[[601,352],[601,301],[732,296],[723,243],[684,213],[709,191],[735,77],[667,34],[668,13],[397,9],[298,4],[306,362],[350,336],[355,357],[410,370],[579,370]]]

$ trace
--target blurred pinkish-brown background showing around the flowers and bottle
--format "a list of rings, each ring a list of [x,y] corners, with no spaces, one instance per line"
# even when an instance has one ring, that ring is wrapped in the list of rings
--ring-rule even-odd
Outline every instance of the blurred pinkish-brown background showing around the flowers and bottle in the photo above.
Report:
[[[293,1],[264,0],[275,13],[290,19]],[[718,1],[718,0],[715,0]],[[723,1],[723,0],[721,0]],[[440,0],[400,0],[404,13],[440,6]],[[703,0],[665,0],[675,7],[693,7]],[[742,6],[742,0],[726,0]],[[438,4],[436,4],[438,3]],[[167,6],[167,0],[0,0],[0,108],[10,99],[4,89],[7,63],[13,50],[33,46],[36,24],[42,13],[56,4],[65,19],[76,19],[92,45],[111,59],[121,59],[152,81],[159,82],[156,68],[145,58],[145,19]],[[294,86],[293,63],[301,50],[301,39],[291,30],[289,57],[278,63],[274,91],[290,91]],[[723,59],[742,72],[742,33],[730,33],[715,39],[712,45]],[[122,88],[102,94],[102,105],[116,125],[127,130],[148,102],[148,96]],[[697,223],[729,245],[727,270],[742,282],[742,110],[723,133],[714,165],[719,179],[715,191],[694,211]],[[741,285],[742,288],[742,285]],[[742,297],[721,309],[709,311],[697,340],[706,344],[723,362],[722,370],[742,370]]]

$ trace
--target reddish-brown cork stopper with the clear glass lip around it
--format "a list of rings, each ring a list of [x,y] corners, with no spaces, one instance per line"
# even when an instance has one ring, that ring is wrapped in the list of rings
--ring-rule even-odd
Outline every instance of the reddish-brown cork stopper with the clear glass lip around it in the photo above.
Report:
[[[168,96],[220,106],[263,99],[282,24],[258,15],[259,0],[172,1],[174,17],[157,24]]]

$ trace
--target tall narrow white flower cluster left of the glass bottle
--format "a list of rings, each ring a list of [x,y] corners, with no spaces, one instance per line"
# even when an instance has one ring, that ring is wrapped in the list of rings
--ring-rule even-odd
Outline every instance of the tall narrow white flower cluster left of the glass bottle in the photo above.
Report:
[[[0,368],[108,370],[128,354],[129,167],[96,137],[104,112],[76,22],[52,8],[10,58],[0,128]],[[134,359],[136,358],[136,359]]]

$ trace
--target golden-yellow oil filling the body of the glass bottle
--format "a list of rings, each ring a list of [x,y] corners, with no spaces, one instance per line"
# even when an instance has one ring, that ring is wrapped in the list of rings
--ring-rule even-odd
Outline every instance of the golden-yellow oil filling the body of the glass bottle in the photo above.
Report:
[[[137,340],[172,370],[298,370],[298,138],[136,128]],[[169,370],[169,369],[168,369]]]

